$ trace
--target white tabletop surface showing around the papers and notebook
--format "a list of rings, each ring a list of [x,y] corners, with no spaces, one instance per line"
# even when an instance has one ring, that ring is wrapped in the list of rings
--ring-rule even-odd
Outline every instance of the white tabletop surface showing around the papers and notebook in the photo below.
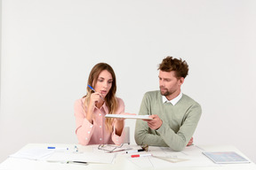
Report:
[[[24,146],[20,151],[25,151],[30,148],[46,148],[49,145],[54,145],[56,147],[74,147],[75,144],[46,144],[46,143],[29,143]],[[76,145],[81,152],[92,151],[92,147],[96,147],[95,145],[91,146],[81,146]],[[131,145],[133,149],[140,149],[140,146]],[[89,163],[88,165],[81,165],[81,164],[63,164],[63,163],[51,163],[42,160],[30,160],[26,158],[7,158],[4,160],[3,163],[0,164],[0,170],[59,170],[59,169],[67,169],[67,170],[84,170],[84,169],[104,169],[104,170],[139,170],[139,169],[157,169],[157,170],[164,170],[164,169],[179,169],[179,170],[197,170],[197,169],[204,169],[204,170],[256,170],[256,166],[254,163],[249,164],[228,164],[228,165],[216,165],[212,163],[209,158],[203,156],[202,151],[236,151],[236,153],[240,154],[244,158],[247,158],[241,151],[238,151],[236,147],[230,145],[216,145],[216,146],[209,146],[209,145],[200,145],[200,146],[191,146],[187,147],[184,151],[181,152],[174,152],[170,151],[170,149],[166,148],[158,148],[158,147],[151,147],[149,146],[149,151],[147,153],[152,153],[156,155],[157,153],[161,154],[172,154],[172,155],[187,155],[186,157],[189,158],[188,161],[183,161],[179,163],[171,163],[166,162],[161,159],[152,158],[152,157],[141,157],[141,158],[131,158],[131,154],[126,154],[125,151],[118,152],[116,154],[115,163],[113,164],[98,164],[98,163]],[[141,154],[142,152],[140,152]],[[113,154],[113,153],[109,153]],[[249,158],[247,158],[249,159]]]

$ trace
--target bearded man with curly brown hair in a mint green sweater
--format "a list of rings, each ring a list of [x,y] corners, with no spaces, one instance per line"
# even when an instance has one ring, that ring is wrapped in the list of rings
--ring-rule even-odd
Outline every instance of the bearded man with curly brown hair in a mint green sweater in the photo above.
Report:
[[[200,104],[181,93],[181,85],[188,75],[188,64],[182,59],[167,57],[159,65],[160,90],[147,92],[140,105],[140,115],[153,120],[137,120],[137,144],[166,146],[182,151],[193,143],[202,110]]]

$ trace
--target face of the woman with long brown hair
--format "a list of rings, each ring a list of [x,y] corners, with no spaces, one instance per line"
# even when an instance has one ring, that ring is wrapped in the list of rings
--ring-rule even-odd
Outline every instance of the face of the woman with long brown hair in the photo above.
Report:
[[[103,70],[100,72],[98,79],[95,83],[95,91],[99,92],[102,97],[106,97],[108,95],[108,91],[112,87],[113,78],[111,73],[107,70]]]

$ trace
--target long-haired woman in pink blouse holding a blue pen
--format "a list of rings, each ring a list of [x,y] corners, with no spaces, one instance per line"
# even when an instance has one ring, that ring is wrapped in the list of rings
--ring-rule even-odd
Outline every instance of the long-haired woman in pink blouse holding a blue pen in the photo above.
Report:
[[[124,119],[105,119],[106,114],[124,112],[124,101],[116,97],[113,68],[106,63],[93,66],[88,85],[86,96],[75,103],[78,142],[83,145],[122,144]]]

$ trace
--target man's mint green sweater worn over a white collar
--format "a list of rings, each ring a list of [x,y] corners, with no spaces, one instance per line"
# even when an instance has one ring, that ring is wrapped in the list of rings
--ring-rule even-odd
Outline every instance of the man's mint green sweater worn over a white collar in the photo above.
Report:
[[[163,124],[157,130],[148,128],[143,120],[136,121],[135,141],[137,144],[170,147],[182,151],[196,130],[202,110],[195,100],[182,95],[180,101],[172,105],[163,104],[159,90],[147,92],[140,105],[140,115],[157,114]]]

